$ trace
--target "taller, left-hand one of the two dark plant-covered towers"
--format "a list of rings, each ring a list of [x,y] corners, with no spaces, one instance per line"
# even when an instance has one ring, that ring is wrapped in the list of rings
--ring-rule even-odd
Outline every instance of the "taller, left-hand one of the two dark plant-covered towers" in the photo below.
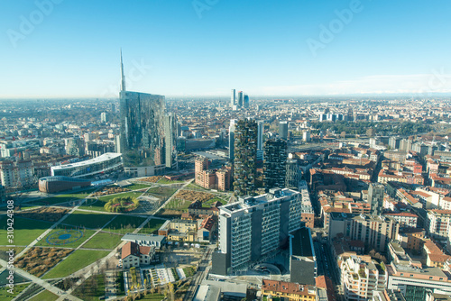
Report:
[[[235,123],[234,190],[236,196],[253,196],[257,176],[257,123],[243,119]]]

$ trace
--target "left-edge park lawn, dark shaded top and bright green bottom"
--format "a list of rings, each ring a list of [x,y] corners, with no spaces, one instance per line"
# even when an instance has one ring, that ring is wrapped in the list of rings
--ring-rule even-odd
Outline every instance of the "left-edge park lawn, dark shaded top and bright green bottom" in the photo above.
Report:
[[[0,217],[0,245],[14,244],[17,246],[28,245],[36,237],[49,229],[53,223],[29,220],[20,217],[14,217],[14,243],[7,242],[7,218],[5,215]]]

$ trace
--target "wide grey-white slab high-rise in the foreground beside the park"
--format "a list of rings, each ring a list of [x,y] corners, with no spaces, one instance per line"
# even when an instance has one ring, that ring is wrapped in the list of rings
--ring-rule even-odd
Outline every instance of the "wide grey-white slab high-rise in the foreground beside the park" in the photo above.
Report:
[[[298,191],[270,189],[262,196],[239,197],[219,207],[219,251],[214,253],[213,274],[228,275],[248,268],[286,246],[289,233],[300,228]]]

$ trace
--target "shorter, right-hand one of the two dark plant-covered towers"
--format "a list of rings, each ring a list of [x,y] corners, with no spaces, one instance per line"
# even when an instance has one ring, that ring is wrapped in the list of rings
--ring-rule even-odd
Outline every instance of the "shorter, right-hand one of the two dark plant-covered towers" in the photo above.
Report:
[[[264,141],[263,187],[285,187],[285,162],[287,141],[269,139]]]

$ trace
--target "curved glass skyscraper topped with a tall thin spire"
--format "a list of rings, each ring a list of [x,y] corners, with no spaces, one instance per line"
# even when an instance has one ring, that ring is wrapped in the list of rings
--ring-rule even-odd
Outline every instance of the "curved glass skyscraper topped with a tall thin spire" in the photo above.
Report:
[[[126,91],[122,55],[121,71],[121,145],[118,149],[123,153],[124,171],[131,177],[161,174],[166,166],[165,97]]]

